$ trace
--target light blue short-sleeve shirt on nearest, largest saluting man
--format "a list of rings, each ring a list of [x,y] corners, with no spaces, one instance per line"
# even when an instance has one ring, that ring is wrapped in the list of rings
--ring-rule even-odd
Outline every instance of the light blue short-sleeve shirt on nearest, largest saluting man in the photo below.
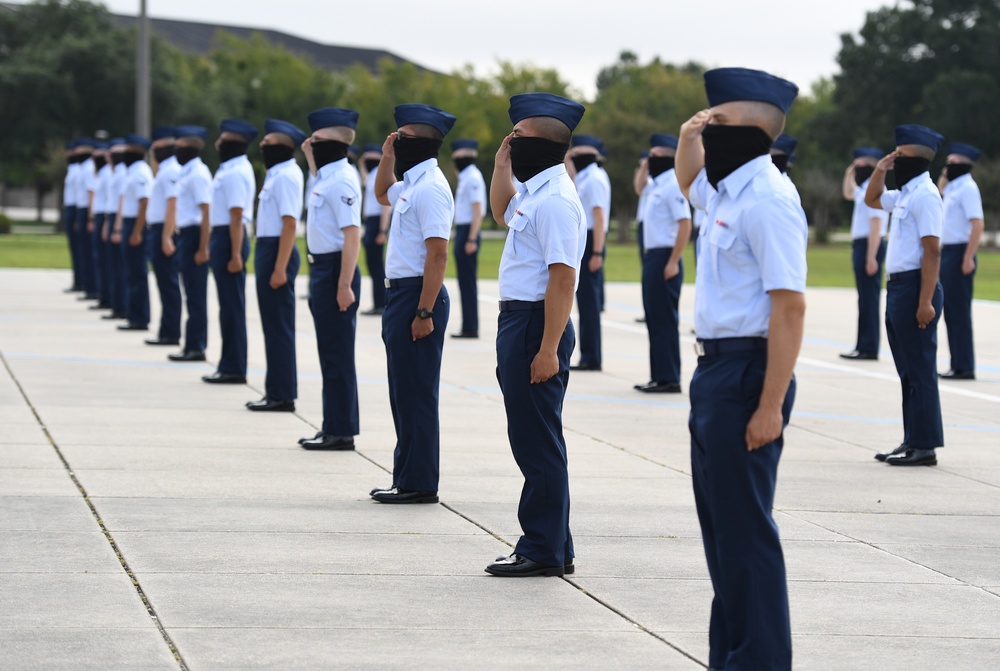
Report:
[[[734,170],[718,191],[702,170],[689,195],[706,211],[698,238],[695,332],[702,339],[767,337],[767,292],[806,289],[805,213],[767,155]]]

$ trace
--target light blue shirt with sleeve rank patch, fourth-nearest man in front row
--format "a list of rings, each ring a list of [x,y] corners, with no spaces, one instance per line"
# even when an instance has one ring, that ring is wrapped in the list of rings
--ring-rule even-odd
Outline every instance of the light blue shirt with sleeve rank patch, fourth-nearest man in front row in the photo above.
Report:
[[[361,227],[361,178],[346,158],[324,165],[306,195],[306,240],[311,254],[344,249],[344,230]]]

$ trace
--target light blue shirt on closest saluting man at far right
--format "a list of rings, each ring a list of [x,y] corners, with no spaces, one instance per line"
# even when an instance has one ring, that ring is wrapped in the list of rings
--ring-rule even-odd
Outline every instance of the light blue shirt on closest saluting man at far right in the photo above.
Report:
[[[924,259],[922,238],[941,237],[944,203],[929,173],[921,173],[902,189],[882,194],[882,209],[892,212],[885,269],[892,273],[918,270]]]

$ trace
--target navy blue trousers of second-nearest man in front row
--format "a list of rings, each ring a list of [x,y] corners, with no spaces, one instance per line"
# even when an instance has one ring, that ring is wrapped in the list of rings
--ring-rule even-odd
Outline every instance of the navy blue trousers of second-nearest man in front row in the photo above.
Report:
[[[569,472],[562,430],[563,399],[576,336],[573,322],[559,340],[559,373],[531,384],[531,362],[545,330],[545,310],[501,312],[497,319],[497,380],[507,410],[507,437],[524,476],[514,551],[545,566],[574,556],[569,530]]]

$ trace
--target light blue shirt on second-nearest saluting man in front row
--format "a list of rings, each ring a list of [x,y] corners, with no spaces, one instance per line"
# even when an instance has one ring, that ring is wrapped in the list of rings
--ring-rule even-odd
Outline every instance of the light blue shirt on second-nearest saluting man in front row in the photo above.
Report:
[[[509,230],[500,257],[500,300],[544,299],[554,263],[579,271],[587,217],[566,166],[546,168],[518,184],[504,221]]]

